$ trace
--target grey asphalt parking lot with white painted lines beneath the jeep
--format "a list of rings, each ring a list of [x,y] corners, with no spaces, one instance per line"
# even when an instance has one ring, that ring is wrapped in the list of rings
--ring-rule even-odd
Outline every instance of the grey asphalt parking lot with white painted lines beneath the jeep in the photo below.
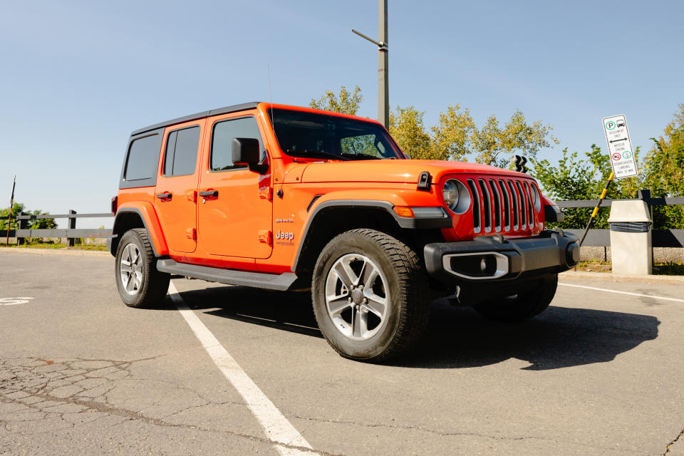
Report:
[[[684,301],[603,291],[680,285],[561,279],[519,325],[435,302],[419,350],[373,365],[306,294],[175,279],[129,309],[113,272],[0,251],[0,455],[684,455]]]

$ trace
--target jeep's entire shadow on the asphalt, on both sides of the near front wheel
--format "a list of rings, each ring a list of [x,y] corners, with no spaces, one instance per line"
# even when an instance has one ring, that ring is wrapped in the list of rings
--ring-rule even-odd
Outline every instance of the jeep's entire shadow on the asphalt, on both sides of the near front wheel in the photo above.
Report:
[[[182,296],[191,309],[212,309],[207,315],[322,337],[309,293],[216,286]],[[175,310],[170,299],[167,309]],[[472,368],[517,358],[531,364],[524,370],[543,371],[605,363],[658,337],[659,324],[654,316],[556,306],[524,323],[497,323],[440,299],[432,301],[423,341],[390,364]]]

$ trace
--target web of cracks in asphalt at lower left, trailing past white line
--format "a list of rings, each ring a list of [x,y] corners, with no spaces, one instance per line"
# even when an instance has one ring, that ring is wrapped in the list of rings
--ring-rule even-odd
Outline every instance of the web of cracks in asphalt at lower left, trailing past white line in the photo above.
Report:
[[[298,450],[304,454],[342,456],[335,453],[311,450],[307,447],[276,442],[266,437],[244,434],[228,429],[204,427],[190,423],[172,423],[171,417],[193,408],[207,405],[241,405],[240,401],[212,401],[204,398],[191,388],[176,385],[167,380],[134,378],[129,368],[133,363],[149,361],[158,357],[142,358],[134,361],[115,361],[105,359],[62,358],[48,360],[43,358],[0,359],[0,425],[10,433],[39,435],[76,427],[79,424],[100,420],[105,416],[123,418],[113,427],[128,421],[162,427],[180,427],[201,432],[217,432],[223,435],[244,438],[264,445]],[[155,382],[171,385],[173,388],[195,395],[202,403],[176,408],[162,418],[147,416],[144,410],[161,406],[153,403],[140,411],[121,408],[110,402],[110,393],[117,388],[125,388],[130,382]],[[66,410],[65,410],[66,409]],[[46,420],[56,423],[44,423]],[[41,422],[43,427],[40,429]],[[22,425],[24,427],[22,428]],[[38,427],[39,429],[32,429]]]

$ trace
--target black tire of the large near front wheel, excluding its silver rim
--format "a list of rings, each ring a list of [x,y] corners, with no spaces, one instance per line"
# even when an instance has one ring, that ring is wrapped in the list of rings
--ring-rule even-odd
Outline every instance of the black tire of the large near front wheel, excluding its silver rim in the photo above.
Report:
[[[378,332],[363,341],[339,331],[326,304],[328,272],[347,254],[371,259],[388,281],[386,317]],[[318,328],[326,341],[341,356],[358,361],[387,361],[406,353],[425,333],[430,314],[427,276],[418,255],[398,239],[373,229],[353,229],[328,242],[314,267],[311,295]]]

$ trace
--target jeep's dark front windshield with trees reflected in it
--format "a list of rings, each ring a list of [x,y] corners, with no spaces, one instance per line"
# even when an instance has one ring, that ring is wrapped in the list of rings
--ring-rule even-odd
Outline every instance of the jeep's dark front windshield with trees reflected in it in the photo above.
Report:
[[[269,116],[287,155],[327,160],[404,158],[387,131],[375,123],[285,109],[269,109]]]

